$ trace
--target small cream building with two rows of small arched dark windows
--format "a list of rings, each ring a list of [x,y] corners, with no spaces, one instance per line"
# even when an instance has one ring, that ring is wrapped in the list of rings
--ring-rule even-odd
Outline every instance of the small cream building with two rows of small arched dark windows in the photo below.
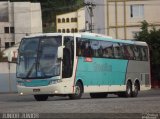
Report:
[[[75,33],[85,30],[85,10],[81,8],[75,12],[56,16],[57,32]]]

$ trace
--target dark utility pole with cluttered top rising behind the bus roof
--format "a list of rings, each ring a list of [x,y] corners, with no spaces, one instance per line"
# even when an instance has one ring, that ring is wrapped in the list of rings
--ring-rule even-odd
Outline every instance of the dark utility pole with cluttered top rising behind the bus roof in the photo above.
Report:
[[[87,2],[84,4],[87,8],[87,11],[90,17],[89,31],[92,33],[93,32],[93,16],[94,16],[93,9],[95,8],[96,4],[93,4],[92,2]]]

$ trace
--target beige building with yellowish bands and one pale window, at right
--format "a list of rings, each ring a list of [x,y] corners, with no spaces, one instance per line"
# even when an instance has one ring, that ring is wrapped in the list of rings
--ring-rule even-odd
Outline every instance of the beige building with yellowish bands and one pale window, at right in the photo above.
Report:
[[[141,22],[160,28],[159,0],[106,0],[105,34],[118,39],[134,39]]]

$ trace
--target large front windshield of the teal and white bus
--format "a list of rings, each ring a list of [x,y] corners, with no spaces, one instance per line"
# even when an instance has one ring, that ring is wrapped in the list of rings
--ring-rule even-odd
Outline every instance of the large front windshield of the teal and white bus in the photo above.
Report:
[[[62,37],[33,37],[22,39],[17,61],[17,77],[23,79],[50,78],[60,75],[58,47]]]

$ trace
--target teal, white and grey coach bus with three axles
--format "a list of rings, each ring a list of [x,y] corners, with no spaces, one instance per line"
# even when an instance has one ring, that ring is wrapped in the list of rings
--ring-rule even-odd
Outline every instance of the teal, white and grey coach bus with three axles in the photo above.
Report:
[[[85,32],[25,36],[16,76],[18,93],[37,101],[80,99],[83,93],[136,97],[151,88],[149,48],[145,42]]]

